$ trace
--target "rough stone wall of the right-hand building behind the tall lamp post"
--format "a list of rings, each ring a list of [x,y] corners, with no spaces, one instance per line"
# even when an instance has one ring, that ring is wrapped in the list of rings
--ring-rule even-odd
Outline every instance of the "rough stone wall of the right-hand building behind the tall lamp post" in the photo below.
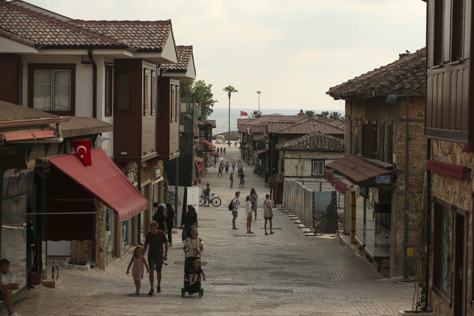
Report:
[[[391,219],[391,258],[390,276],[403,275],[403,228],[404,228],[404,191],[405,191],[405,109],[406,99],[400,97],[395,104],[386,102],[386,96],[346,101],[345,153],[354,154],[354,135],[357,125],[377,124],[377,142],[379,142],[380,123],[385,122],[384,158],[387,153],[387,126],[393,125],[393,163],[396,165],[395,188],[392,195]],[[423,191],[424,168],[426,166],[426,138],[424,138],[424,97],[411,96],[409,99],[409,191]],[[377,146],[378,148],[378,146]],[[416,175],[415,175],[416,174]],[[410,228],[409,242],[414,240],[416,232]],[[414,275],[410,265],[410,275]]]

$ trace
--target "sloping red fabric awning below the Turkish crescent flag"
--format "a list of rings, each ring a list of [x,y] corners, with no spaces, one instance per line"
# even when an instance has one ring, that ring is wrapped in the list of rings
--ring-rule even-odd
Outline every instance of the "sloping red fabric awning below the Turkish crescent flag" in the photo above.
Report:
[[[92,165],[84,166],[76,155],[49,161],[104,204],[118,213],[118,221],[128,219],[148,207],[148,201],[128,181],[102,148],[91,150]]]

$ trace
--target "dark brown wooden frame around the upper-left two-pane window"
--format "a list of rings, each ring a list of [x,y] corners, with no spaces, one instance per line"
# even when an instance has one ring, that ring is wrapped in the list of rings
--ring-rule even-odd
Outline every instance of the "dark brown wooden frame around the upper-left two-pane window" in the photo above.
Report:
[[[35,70],[62,70],[71,72],[70,80],[70,109],[69,110],[41,110],[43,112],[56,114],[60,116],[75,116],[76,115],[76,64],[28,64],[28,107],[34,109],[34,85],[35,85]],[[51,88],[51,92],[54,89]],[[51,100],[54,96],[51,95]]]

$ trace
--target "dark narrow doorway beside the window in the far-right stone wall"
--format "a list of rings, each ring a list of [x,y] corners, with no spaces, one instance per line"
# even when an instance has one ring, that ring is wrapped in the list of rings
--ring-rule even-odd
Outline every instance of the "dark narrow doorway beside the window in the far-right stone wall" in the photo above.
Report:
[[[456,209],[454,222],[454,315],[466,315],[467,214]]]

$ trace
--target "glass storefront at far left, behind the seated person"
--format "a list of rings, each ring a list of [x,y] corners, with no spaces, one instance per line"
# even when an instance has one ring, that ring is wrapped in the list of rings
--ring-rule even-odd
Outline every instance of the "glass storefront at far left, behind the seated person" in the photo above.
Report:
[[[19,283],[20,288],[26,284],[26,212],[29,207],[36,209],[34,177],[34,169],[3,173],[0,256],[10,261],[10,271],[2,281]]]

